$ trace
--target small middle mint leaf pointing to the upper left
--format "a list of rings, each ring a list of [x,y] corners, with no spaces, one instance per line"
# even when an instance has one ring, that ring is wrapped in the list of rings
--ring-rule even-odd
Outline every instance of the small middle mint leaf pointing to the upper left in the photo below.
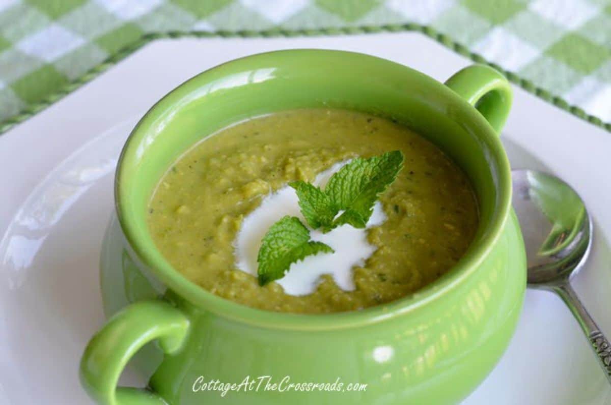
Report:
[[[320,188],[305,181],[288,183],[295,189],[299,197],[299,208],[305,221],[313,229],[331,227],[338,210],[334,207],[331,197]]]

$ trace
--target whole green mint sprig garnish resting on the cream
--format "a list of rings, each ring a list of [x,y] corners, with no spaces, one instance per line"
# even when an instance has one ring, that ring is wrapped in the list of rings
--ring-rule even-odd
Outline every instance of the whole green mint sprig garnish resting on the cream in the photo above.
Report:
[[[304,181],[293,181],[299,208],[313,229],[329,232],[350,224],[365,228],[373,205],[403,168],[403,153],[395,150],[372,158],[356,158],[331,176],[324,191]],[[265,285],[284,277],[291,264],[309,255],[334,253],[324,243],[310,241],[298,217],[285,216],[263,236],[258,252],[258,282]]]

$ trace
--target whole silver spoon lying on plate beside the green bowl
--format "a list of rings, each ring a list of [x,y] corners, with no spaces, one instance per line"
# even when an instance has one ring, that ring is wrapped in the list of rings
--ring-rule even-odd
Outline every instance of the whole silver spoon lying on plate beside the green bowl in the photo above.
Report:
[[[564,181],[535,170],[513,170],[513,208],[518,214],[528,263],[528,285],[554,291],[590,340],[611,382],[611,346],[571,287],[592,241],[583,200]]]

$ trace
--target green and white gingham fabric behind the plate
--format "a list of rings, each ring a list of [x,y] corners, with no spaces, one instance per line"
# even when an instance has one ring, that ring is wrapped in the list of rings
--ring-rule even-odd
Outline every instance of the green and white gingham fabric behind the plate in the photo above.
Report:
[[[414,27],[406,24],[611,122],[611,0],[0,0],[0,123],[75,88],[147,34]]]

